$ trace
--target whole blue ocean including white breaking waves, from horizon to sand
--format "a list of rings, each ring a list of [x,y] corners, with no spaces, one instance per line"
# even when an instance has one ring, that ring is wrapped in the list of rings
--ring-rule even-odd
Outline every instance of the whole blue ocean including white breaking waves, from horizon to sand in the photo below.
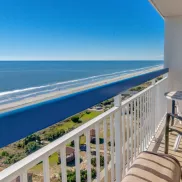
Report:
[[[163,61],[0,61],[0,105],[157,65]]]

